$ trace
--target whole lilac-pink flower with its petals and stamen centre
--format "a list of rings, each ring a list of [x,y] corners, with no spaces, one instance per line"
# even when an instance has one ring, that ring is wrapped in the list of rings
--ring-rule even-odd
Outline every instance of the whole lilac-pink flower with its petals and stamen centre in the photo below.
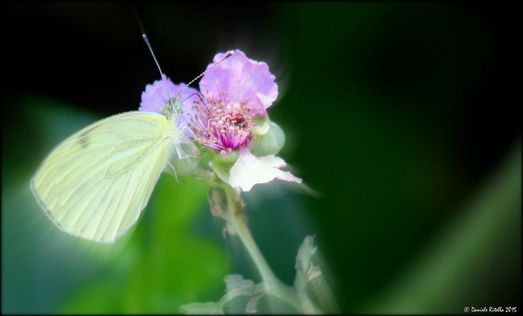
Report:
[[[232,55],[223,60],[227,54]],[[274,153],[270,153],[267,148],[260,150],[264,154],[269,153],[263,157],[252,154],[251,150],[256,150],[252,148],[253,146],[247,147],[253,137],[261,139],[264,136],[278,134],[267,133],[270,130],[269,126],[275,126],[271,127],[271,131],[275,128],[279,129],[267,117],[267,108],[278,97],[275,76],[269,72],[267,64],[253,61],[239,50],[217,54],[213,61],[214,63],[207,68],[209,71],[200,80],[200,92],[203,98],[194,97],[192,102],[182,102],[178,124],[187,122],[186,125],[189,127],[186,129],[187,135],[202,146],[217,150],[219,153],[217,158],[228,153],[235,154],[233,157],[237,159],[233,165],[212,163],[219,177],[235,188],[249,191],[255,184],[267,183],[274,179],[301,183],[300,178],[294,177],[288,171],[280,170],[286,166],[286,163],[274,154],[277,154],[282,142],[279,142],[277,148],[275,147]],[[217,64],[220,61],[222,62]],[[210,69],[211,67],[213,68]],[[168,78],[166,84],[167,89],[173,91],[171,93],[176,93],[185,86],[174,85]],[[181,100],[195,93],[197,93],[195,89],[187,88],[183,91]],[[167,99],[162,80],[155,81],[142,93],[139,110],[158,112]],[[265,119],[260,120],[261,118]],[[257,127],[255,122],[260,121],[266,124],[267,128],[257,128],[257,132],[253,133],[253,128]],[[279,138],[285,139],[283,136]],[[262,143],[270,144],[266,141],[253,144]],[[235,151],[239,153],[234,153]],[[219,166],[226,166],[226,172],[218,170]]]

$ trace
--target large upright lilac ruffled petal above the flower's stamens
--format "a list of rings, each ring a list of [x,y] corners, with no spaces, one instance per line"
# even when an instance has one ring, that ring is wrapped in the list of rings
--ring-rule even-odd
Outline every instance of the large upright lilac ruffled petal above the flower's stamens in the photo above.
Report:
[[[255,104],[260,108],[258,115],[265,115],[265,109],[278,97],[275,76],[269,73],[266,63],[253,61],[240,50],[217,54],[213,62],[219,62],[228,53],[233,54],[203,76],[200,91],[212,99],[221,99],[225,92],[232,102]]]

